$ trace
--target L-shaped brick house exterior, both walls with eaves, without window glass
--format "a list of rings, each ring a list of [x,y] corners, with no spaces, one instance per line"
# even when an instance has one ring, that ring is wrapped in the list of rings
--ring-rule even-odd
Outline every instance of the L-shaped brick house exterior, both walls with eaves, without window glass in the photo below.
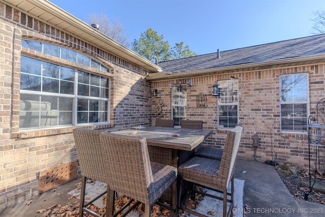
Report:
[[[244,127],[239,157],[255,157],[266,161],[274,160],[276,154],[279,163],[292,163],[302,167],[308,165],[307,133],[281,131],[279,77],[307,74],[307,110],[308,115],[315,116],[316,104],[324,98],[325,92],[325,35],[307,37],[309,40],[301,42],[304,44],[299,49],[289,49],[287,46],[287,56],[281,54],[281,58],[265,54],[262,60],[240,61],[234,57],[234,53],[233,56],[228,56],[228,51],[220,53],[220,60],[234,61],[228,65],[198,64],[199,68],[191,68],[190,65],[195,65],[191,63],[203,63],[203,58],[209,56],[155,65],[47,1],[2,1],[0,26],[0,212],[38,195],[40,173],[78,160],[72,135],[74,128],[107,128],[118,131],[139,125],[154,125],[156,118],[172,118],[170,84],[173,82],[178,85],[179,80],[186,86],[184,118],[201,119],[204,121],[204,129],[213,130],[213,134],[204,142],[205,145],[222,147],[227,129],[220,128],[218,122],[218,97],[212,95],[213,85],[234,77],[238,81],[238,121]],[[76,51],[95,60],[107,70],[73,63],[28,48],[24,46],[24,40]],[[311,43],[315,41],[318,43]],[[277,45],[279,44],[272,44],[273,49]],[[297,50],[307,48],[305,46],[309,46],[308,52],[296,54]],[[251,54],[249,50],[254,49],[258,50],[257,47],[251,47],[238,52],[245,57]],[[213,55],[216,56],[217,53]],[[256,55],[262,56],[261,53]],[[90,76],[109,78],[109,96],[106,100],[109,105],[108,120],[22,129],[21,59],[25,57],[72,68]],[[153,96],[155,89],[157,96]],[[206,101],[200,105],[197,104],[199,94],[206,97]],[[161,112],[157,112],[157,108],[161,108]],[[256,153],[252,139],[255,133],[261,138],[261,146],[256,148]],[[314,149],[312,151],[314,154]],[[79,173],[78,168],[77,174]]]

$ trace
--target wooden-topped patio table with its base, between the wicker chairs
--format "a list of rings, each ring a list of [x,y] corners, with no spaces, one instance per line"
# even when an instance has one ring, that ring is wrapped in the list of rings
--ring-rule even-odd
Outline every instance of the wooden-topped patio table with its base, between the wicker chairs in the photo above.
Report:
[[[143,130],[123,130],[113,133],[145,137],[150,161],[178,168],[194,155],[194,148],[209,137],[212,130],[146,127]],[[171,202],[172,194],[177,194],[176,185],[161,198]]]

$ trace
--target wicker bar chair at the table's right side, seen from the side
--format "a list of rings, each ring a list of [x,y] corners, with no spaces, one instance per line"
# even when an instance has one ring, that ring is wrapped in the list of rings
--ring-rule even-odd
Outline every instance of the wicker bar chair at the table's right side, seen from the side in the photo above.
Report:
[[[183,180],[193,182],[195,185],[206,189],[214,190],[223,194],[223,197],[213,196],[211,194],[200,194],[213,197],[223,201],[223,216],[231,213],[234,206],[234,164],[237,156],[237,151],[240,143],[240,137],[243,128],[235,127],[229,131],[226,137],[224,151],[221,161],[193,157],[184,164],[178,167],[178,175],[180,177],[180,192],[179,192],[179,209],[188,213],[205,216],[196,211],[183,207],[182,204],[182,184]],[[227,187],[231,181],[231,192],[227,193]],[[230,199],[228,198],[230,196]],[[230,202],[230,208],[227,211],[227,202]]]

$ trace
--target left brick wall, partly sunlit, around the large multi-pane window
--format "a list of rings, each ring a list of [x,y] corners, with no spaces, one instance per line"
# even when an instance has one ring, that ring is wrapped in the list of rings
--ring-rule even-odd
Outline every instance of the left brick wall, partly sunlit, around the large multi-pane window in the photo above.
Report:
[[[73,65],[111,78],[110,123],[95,128],[116,131],[125,126],[151,125],[151,84],[144,79],[146,70],[3,4],[0,4],[0,29],[1,212],[38,195],[37,175],[40,171],[77,160],[73,127],[19,131],[21,54],[42,56],[50,58],[53,63],[67,65],[65,60],[23,48],[22,39],[41,40],[75,49],[90,54],[110,68],[109,73],[103,74]]]

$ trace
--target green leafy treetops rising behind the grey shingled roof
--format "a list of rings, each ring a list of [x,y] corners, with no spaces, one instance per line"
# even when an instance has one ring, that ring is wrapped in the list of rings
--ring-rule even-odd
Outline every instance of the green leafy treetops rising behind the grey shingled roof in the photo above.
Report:
[[[157,61],[167,61],[196,55],[188,45],[184,46],[183,42],[175,43],[175,46],[170,48],[168,41],[164,41],[164,35],[159,36],[151,28],[142,33],[139,40],[134,40],[132,49],[153,63],[156,61],[155,57]]]

